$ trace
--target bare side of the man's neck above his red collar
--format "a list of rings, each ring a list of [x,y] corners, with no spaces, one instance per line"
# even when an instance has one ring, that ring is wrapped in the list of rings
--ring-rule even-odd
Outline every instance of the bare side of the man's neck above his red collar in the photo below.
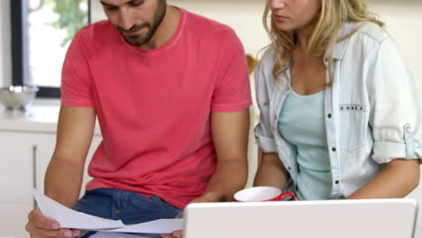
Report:
[[[151,40],[142,44],[140,47],[144,50],[153,50],[161,47],[177,31],[180,20],[180,10],[174,6],[167,5],[166,14],[159,28],[152,36]]]

